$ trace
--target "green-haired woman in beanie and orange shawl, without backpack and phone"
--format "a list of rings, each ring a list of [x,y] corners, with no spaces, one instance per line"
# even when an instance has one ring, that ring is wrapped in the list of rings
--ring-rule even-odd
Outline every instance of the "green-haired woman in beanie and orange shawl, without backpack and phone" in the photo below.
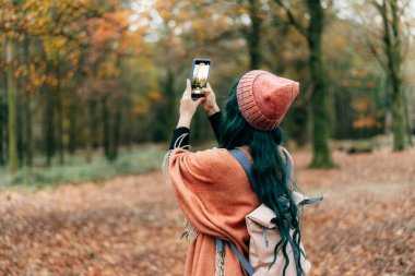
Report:
[[[278,146],[282,141],[278,124],[298,91],[297,82],[265,71],[250,71],[232,86],[222,118],[212,88],[208,86],[203,91],[204,98],[192,100],[187,81],[164,168],[188,219],[183,236],[191,243],[185,275],[246,275],[229,247],[225,247],[224,254],[216,253],[215,238],[230,241],[247,256],[249,235],[245,217],[261,203],[276,214],[275,224],[282,233],[275,254],[286,251],[289,227],[297,233],[295,247],[299,249],[297,207],[292,184],[284,181],[285,161]],[[220,146],[192,153],[188,151],[189,128],[199,105],[210,116]],[[256,182],[260,183],[257,187],[250,184],[244,169],[229,154],[228,149],[235,147],[251,160]],[[277,201],[281,196],[288,199],[289,205]],[[284,211],[290,215],[289,224],[284,221]],[[289,263],[288,257],[285,261]]]

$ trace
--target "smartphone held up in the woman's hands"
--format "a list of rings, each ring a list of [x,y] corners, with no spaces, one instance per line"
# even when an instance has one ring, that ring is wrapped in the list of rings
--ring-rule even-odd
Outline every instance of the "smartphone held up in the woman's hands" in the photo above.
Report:
[[[209,69],[211,68],[210,59],[193,59],[190,71],[191,97],[201,98],[204,94],[201,93],[208,86]]]

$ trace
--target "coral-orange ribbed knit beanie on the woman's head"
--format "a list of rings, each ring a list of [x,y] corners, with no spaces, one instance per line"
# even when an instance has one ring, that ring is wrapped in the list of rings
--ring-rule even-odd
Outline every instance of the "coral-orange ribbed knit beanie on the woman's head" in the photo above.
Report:
[[[298,92],[297,82],[253,70],[239,81],[239,110],[251,127],[270,131],[278,127]]]

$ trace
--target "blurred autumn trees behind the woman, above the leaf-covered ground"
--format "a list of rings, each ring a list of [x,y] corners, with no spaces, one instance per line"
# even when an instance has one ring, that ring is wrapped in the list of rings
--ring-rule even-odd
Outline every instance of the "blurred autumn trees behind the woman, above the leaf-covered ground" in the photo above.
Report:
[[[344,4],[342,2],[342,4]],[[194,57],[212,60],[217,97],[251,69],[298,80],[283,123],[333,165],[329,141],[412,143],[410,1],[0,0],[0,165],[66,163],[78,152],[169,139]],[[213,139],[198,112],[192,140]]]

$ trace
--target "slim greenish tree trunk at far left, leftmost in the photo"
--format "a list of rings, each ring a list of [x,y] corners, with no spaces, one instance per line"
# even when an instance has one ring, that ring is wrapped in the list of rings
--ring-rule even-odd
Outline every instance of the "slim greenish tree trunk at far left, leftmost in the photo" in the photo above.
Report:
[[[17,169],[17,137],[16,137],[16,82],[14,80],[13,51],[16,45],[12,39],[7,41],[8,63],[8,123],[9,123],[9,170]]]

